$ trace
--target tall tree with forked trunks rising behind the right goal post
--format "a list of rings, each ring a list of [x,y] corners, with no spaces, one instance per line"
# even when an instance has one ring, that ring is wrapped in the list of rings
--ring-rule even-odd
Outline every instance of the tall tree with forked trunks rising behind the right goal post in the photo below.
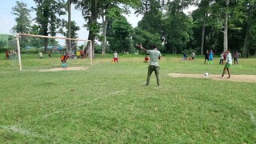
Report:
[[[90,30],[88,39],[93,42],[92,53],[94,53],[95,38],[100,38],[102,41],[106,41],[106,27],[110,11],[113,11],[113,9],[118,8],[119,6],[124,6],[125,8],[127,8],[127,6],[136,6],[136,4],[138,6],[139,0],[74,0],[74,3],[76,3],[77,8],[82,10],[82,15],[87,22],[85,26]],[[102,24],[97,21],[100,17],[102,17]],[[101,30],[102,35],[99,34]],[[104,55],[106,42],[102,42],[102,46],[102,55]]]

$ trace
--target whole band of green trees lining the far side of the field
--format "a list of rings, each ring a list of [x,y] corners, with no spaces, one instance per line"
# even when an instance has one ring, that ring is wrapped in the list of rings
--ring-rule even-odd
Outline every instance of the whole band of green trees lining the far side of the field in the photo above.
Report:
[[[12,13],[17,16],[13,30],[18,33],[56,35],[66,34],[67,14],[64,0],[34,0],[36,18],[30,20],[31,10],[23,2],[16,2]],[[221,53],[238,50],[244,57],[256,54],[256,1],[254,0],[70,0],[80,10],[88,39],[108,51],[132,51],[136,43],[148,48],[154,44],[166,54],[181,54],[194,50]],[[190,14],[184,10],[197,6]],[[138,26],[132,27],[125,14],[141,14]],[[33,21],[34,26],[30,26]],[[79,30],[72,22],[72,38]],[[99,41],[99,43],[95,43]],[[48,40],[44,41],[47,46]],[[0,42],[6,46],[6,42]],[[93,49],[94,50],[94,49]],[[94,51],[92,51],[94,53]]]

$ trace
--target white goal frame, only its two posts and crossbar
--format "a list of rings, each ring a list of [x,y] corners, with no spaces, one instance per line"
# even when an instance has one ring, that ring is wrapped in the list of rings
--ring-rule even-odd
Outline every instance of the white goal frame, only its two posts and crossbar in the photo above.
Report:
[[[19,37],[20,36],[38,37],[38,38],[55,38],[55,39],[65,39],[65,40],[90,42],[90,66],[93,65],[93,60],[92,60],[93,59],[93,54],[92,54],[92,42],[91,42],[91,40],[78,39],[78,38],[51,37],[51,36],[35,35],[35,34],[17,34],[16,35],[16,40],[17,40],[17,48],[18,48],[18,65],[19,65],[19,70],[22,70],[21,48],[20,48],[20,45],[19,45]]]

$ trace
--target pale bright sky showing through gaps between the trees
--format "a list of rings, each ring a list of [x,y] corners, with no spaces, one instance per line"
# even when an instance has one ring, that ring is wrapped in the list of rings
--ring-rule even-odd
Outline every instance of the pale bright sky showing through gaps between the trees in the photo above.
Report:
[[[34,0],[19,0],[24,3],[26,3],[27,8],[31,8],[32,6],[35,6]],[[12,14],[12,7],[16,6],[16,0],[0,0],[1,5],[0,5],[0,34],[11,34],[10,30],[14,25],[16,24],[15,22],[15,16]],[[185,12],[188,13],[191,10],[194,10],[194,7],[190,7],[187,9]],[[35,13],[31,12],[30,13],[31,18],[35,18]],[[128,22],[133,27],[136,27],[138,25],[138,22],[142,19],[142,15],[135,15],[134,10],[131,10],[131,13],[129,15],[125,15]],[[67,15],[65,16],[67,19]],[[65,18],[64,17],[64,18]],[[78,26],[80,26],[80,30],[78,31],[78,38],[81,39],[87,39],[89,31],[86,30],[83,25],[85,24],[84,19],[82,18],[82,12],[79,10],[74,10],[74,6],[72,6],[72,11],[71,11],[71,20],[74,20]],[[57,35],[58,37],[63,37],[61,34]]]

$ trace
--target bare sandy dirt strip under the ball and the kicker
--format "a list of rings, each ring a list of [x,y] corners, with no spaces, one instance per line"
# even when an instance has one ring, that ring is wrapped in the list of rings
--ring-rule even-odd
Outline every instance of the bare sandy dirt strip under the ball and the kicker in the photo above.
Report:
[[[188,78],[210,78],[214,80],[220,81],[234,81],[234,82],[255,82],[256,83],[256,75],[231,75],[231,78],[220,78],[220,75],[217,74],[209,74],[208,77],[205,77],[204,74],[178,74],[178,73],[170,73],[167,74],[171,77],[188,77]]]

